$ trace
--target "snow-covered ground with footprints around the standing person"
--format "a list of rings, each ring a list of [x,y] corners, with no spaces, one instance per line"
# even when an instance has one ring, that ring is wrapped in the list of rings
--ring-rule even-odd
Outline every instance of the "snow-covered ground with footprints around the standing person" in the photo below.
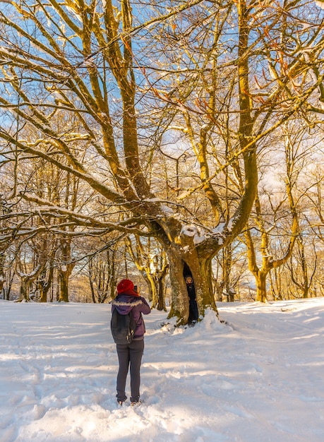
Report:
[[[324,299],[145,316],[139,407],[116,407],[110,306],[0,301],[1,442],[323,442]]]

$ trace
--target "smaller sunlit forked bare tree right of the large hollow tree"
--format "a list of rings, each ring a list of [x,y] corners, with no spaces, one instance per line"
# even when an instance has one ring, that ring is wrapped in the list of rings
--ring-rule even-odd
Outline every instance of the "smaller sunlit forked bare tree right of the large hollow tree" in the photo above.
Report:
[[[251,216],[244,232],[248,251],[248,267],[256,279],[256,300],[267,299],[267,280],[271,270],[282,267],[292,257],[294,244],[301,234],[299,200],[301,194],[297,190],[297,182],[310,156],[306,132],[295,129],[298,121],[292,126],[282,126],[284,145],[285,176],[284,188],[278,196],[273,191],[267,191],[269,184],[263,184],[258,191],[255,203],[255,213]],[[277,145],[280,140],[277,139]],[[277,152],[279,154],[279,150]],[[280,155],[277,156],[279,160]],[[276,160],[275,160],[276,161]],[[280,167],[276,166],[277,179],[280,179]],[[272,186],[278,186],[274,182]],[[262,195],[260,195],[262,193]],[[258,262],[259,261],[259,262]]]

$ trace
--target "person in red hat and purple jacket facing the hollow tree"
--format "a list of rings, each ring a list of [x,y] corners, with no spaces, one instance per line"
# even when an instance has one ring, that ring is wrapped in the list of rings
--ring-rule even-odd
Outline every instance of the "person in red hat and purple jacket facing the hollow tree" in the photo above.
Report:
[[[131,374],[131,405],[140,403],[140,364],[144,351],[145,323],[141,313],[147,315],[151,309],[147,301],[134,289],[131,280],[121,280],[117,285],[117,296],[112,301],[112,313],[116,309],[121,315],[130,311],[136,322],[136,330],[133,340],[129,344],[116,344],[119,360],[119,371],[117,375],[117,402],[123,405],[127,399],[125,388],[128,368]]]

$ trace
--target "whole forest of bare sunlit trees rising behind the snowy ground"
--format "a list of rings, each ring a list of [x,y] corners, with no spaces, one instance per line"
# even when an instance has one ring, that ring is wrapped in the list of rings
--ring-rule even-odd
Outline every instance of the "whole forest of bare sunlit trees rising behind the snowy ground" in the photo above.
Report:
[[[323,296],[323,5],[0,0],[2,297]]]

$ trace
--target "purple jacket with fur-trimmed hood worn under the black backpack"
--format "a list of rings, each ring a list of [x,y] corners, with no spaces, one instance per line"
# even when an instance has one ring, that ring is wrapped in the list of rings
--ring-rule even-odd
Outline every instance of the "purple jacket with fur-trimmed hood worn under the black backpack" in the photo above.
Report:
[[[126,315],[132,311],[135,322],[136,330],[134,334],[134,340],[143,339],[145,333],[145,323],[141,313],[148,315],[151,309],[145,298],[140,296],[134,296],[127,292],[119,293],[116,298],[112,301],[112,313],[114,309],[117,309],[118,313],[121,315]]]

